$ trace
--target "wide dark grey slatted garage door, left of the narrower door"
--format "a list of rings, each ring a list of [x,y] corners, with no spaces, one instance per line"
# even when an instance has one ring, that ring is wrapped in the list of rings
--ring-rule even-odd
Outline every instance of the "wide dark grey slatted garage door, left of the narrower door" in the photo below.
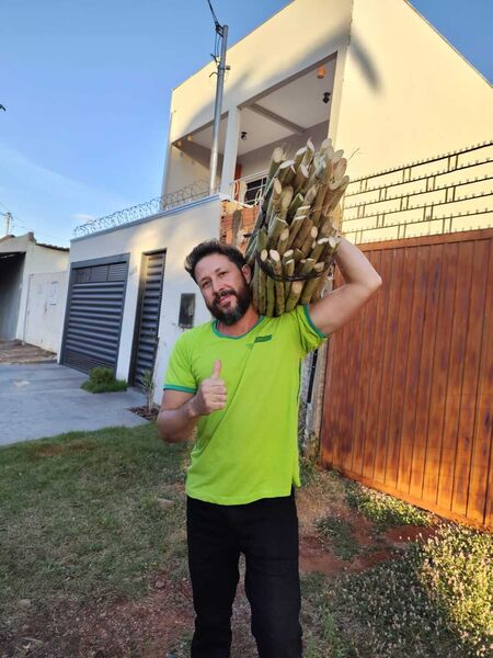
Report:
[[[116,370],[128,254],[72,264],[61,363]]]

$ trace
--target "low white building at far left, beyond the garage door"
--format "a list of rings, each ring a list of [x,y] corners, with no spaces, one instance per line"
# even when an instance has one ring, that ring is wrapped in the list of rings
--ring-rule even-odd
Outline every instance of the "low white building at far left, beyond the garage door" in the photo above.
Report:
[[[56,352],[64,324],[69,250],[32,232],[0,239],[0,339]]]

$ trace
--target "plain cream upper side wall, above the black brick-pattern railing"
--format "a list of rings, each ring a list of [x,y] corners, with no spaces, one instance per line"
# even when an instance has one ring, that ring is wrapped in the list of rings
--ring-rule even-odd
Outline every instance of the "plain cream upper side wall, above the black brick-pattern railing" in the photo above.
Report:
[[[491,86],[404,0],[354,0],[336,143],[355,178],[491,137]]]

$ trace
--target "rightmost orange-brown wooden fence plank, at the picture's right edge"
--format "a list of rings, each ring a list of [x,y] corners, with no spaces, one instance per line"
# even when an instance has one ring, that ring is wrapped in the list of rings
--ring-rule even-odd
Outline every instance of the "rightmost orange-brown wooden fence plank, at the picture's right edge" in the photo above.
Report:
[[[475,349],[480,352],[480,371],[466,514],[468,519],[478,523],[485,521],[493,428],[493,249],[491,246],[492,240],[474,245],[470,311],[471,318],[475,320],[474,338],[478,340]]]

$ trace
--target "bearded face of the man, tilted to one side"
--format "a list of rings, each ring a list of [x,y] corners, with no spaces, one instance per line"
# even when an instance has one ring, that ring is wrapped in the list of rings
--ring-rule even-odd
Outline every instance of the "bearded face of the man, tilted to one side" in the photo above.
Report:
[[[242,270],[221,253],[202,258],[195,266],[195,279],[207,308],[223,325],[234,325],[251,304],[250,268]]]

